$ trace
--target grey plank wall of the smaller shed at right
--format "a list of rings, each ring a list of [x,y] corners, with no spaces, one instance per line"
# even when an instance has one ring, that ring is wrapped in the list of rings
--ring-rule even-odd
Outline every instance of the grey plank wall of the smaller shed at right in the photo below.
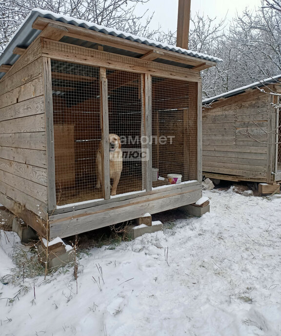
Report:
[[[265,181],[268,95],[253,90],[203,108],[203,173]]]

